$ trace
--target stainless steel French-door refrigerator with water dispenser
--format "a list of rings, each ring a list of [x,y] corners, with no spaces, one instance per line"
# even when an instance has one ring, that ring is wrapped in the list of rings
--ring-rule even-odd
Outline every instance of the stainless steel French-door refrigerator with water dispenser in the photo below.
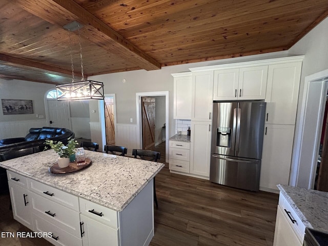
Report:
[[[265,103],[213,103],[210,181],[258,191]]]

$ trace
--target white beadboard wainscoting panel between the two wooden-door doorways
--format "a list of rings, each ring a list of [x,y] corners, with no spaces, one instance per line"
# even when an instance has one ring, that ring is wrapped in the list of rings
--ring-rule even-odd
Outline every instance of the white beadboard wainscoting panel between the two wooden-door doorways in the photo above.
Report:
[[[132,155],[132,149],[139,149],[137,125],[116,124],[115,145],[128,148],[128,155]]]

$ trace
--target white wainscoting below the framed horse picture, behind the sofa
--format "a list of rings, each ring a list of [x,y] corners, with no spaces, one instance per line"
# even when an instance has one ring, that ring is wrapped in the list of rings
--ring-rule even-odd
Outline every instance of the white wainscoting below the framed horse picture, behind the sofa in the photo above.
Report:
[[[0,139],[25,137],[30,128],[46,127],[46,119],[3,121],[0,122]]]

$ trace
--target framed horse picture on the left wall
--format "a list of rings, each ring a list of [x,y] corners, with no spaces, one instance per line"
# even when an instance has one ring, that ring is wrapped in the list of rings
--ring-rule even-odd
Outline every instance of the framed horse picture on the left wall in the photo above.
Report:
[[[2,112],[8,114],[33,114],[32,100],[1,99]]]

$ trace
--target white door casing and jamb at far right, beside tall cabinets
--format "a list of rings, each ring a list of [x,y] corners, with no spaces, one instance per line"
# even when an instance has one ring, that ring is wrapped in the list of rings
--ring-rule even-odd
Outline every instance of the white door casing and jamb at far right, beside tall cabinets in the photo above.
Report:
[[[326,95],[328,70],[304,78],[299,126],[295,132],[290,186],[314,189]],[[321,159],[321,165],[322,165]],[[320,166],[321,166],[320,165]]]

